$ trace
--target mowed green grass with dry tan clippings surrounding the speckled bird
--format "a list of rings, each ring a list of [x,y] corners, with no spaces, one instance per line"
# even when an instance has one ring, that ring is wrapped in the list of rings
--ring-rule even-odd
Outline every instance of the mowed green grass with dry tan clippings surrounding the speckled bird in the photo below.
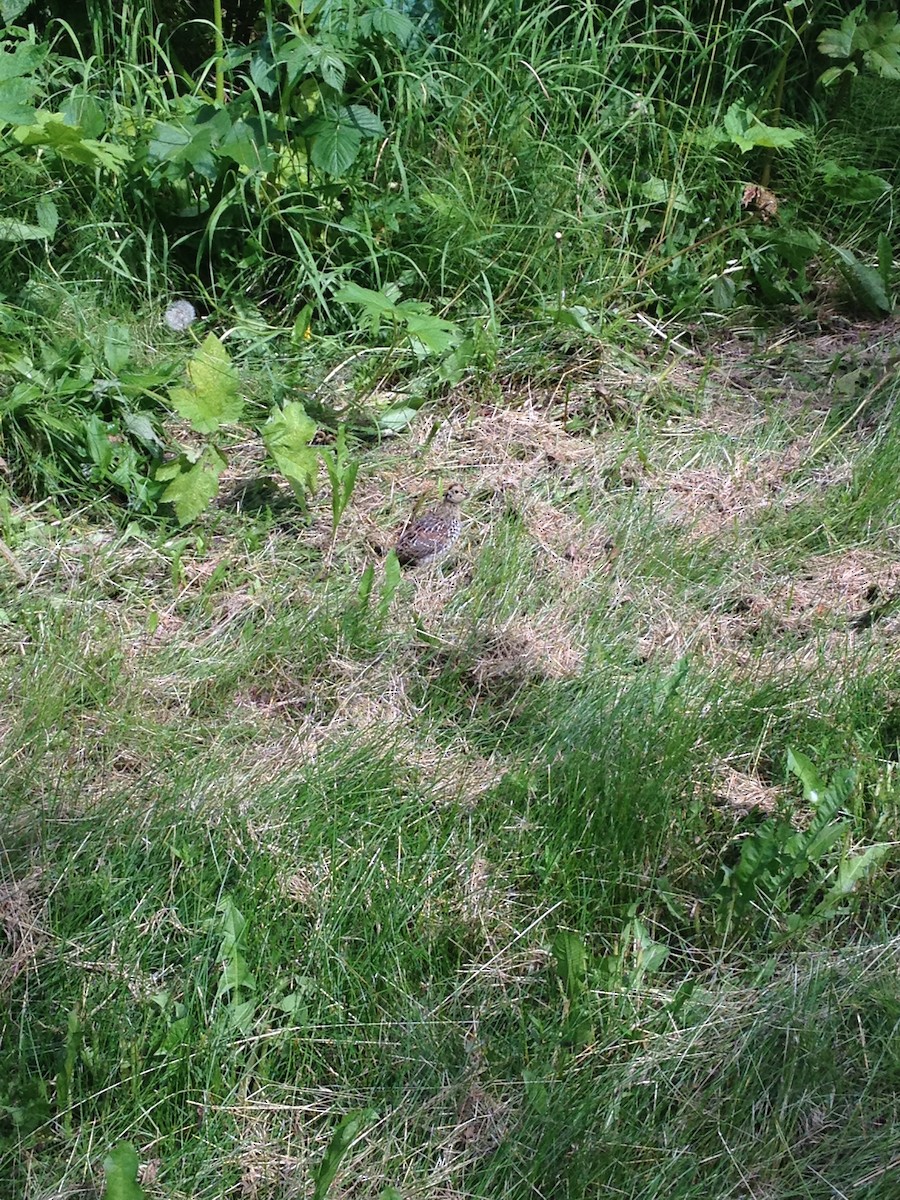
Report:
[[[334,553],[4,510],[2,1194],[310,1195],[359,1109],[336,1196],[898,1194],[896,418],[646,372],[458,397]]]

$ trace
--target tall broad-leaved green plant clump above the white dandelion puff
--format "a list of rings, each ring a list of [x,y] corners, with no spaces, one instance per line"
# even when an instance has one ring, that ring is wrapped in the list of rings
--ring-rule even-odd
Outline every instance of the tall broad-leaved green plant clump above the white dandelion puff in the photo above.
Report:
[[[362,187],[355,166],[364,145],[386,136],[378,108],[392,65],[415,38],[412,20],[371,0],[280,8],[287,19],[265,5],[265,30],[252,46],[226,50],[220,37],[214,94],[202,80],[139,133],[136,166],[152,216],[176,228],[198,262],[239,250],[262,268],[268,247],[320,265]]]

